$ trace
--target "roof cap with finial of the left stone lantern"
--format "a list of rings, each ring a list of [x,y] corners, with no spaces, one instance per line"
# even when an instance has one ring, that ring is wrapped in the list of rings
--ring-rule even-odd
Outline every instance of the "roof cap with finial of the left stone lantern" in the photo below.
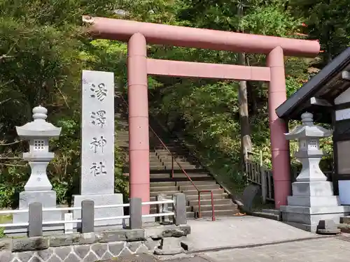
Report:
[[[61,133],[61,128],[46,122],[48,118],[48,110],[39,105],[33,108],[34,121],[28,122],[23,126],[16,126],[16,131],[20,138],[53,138],[58,137]]]

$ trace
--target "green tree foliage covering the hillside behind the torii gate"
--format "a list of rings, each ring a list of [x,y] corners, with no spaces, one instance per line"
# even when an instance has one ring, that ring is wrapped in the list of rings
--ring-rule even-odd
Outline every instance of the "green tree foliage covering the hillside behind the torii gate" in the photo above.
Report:
[[[317,59],[286,57],[288,96],[310,75],[349,45],[349,1],[286,0],[0,0],[0,208],[18,203],[29,167],[20,157],[27,143],[18,142],[15,126],[31,119],[31,108],[48,108],[48,120],[62,127],[51,141],[56,158],[48,168],[59,203],[78,193],[80,162],[80,73],[83,68],[112,71],[125,91],[127,47],[94,40],[85,34],[81,15],[185,25],[253,34],[319,39],[325,52]],[[302,22],[307,27],[302,27]],[[191,48],[149,47],[150,57],[218,64],[237,64],[237,54]],[[262,55],[247,54],[249,65],[265,65]],[[242,183],[238,82],[149,78],[153,115],[195,147],[201,161],[232,187]],[[270,165],[267,85],[248,82],[253,150],[262,150]],[[290,127],[297,123],[291,123]],[[116,130],[118,132],[118,130]],[[330,140],[323,144],[331,153]],[[8,145],[10,144],[10,145]],[[292,151],[295,143],[291,144]],[[329,164],[325,162],[325,164]],[[124,153],[116,147],[116,191],[127,196],[122,170]]]

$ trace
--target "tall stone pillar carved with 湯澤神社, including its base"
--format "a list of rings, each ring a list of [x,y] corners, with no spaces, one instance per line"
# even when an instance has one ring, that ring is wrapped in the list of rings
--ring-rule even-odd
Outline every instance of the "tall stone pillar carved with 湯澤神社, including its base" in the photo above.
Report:
[[[80,195],[75,207],[89,199],[94,205],[123,203],[123,194],[114,194],[114,75],[83,71],[81,114]],[[94,217],[123,216],[123,208],[95,209]],[[73,213],[80,219],[80,210]],[[95,226],[121,225],[123,219],[95,221]]]

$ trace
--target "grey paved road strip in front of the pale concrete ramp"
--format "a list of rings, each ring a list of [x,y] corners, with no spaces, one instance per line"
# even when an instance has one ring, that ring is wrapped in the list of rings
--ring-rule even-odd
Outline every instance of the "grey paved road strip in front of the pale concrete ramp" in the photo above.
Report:
[[[339,238],[316,238],[261,247],[207,252],[206,255],[218,262],[348,262],[350,245],[349,242]]]

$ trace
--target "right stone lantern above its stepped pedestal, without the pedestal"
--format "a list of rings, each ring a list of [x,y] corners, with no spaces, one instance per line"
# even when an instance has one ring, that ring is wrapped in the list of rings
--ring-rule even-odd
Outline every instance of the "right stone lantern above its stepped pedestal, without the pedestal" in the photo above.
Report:
[[[299,150],[294,156],[302,162],[302,170],[297,176],[297,181],[325,181],[327,177],[319,167],[323,156],[319,139],[332,136],[332,130],[315,126],[309,112],[305,112],[301,117],[302,125],[286,133],[287,140],[299,140]]]

